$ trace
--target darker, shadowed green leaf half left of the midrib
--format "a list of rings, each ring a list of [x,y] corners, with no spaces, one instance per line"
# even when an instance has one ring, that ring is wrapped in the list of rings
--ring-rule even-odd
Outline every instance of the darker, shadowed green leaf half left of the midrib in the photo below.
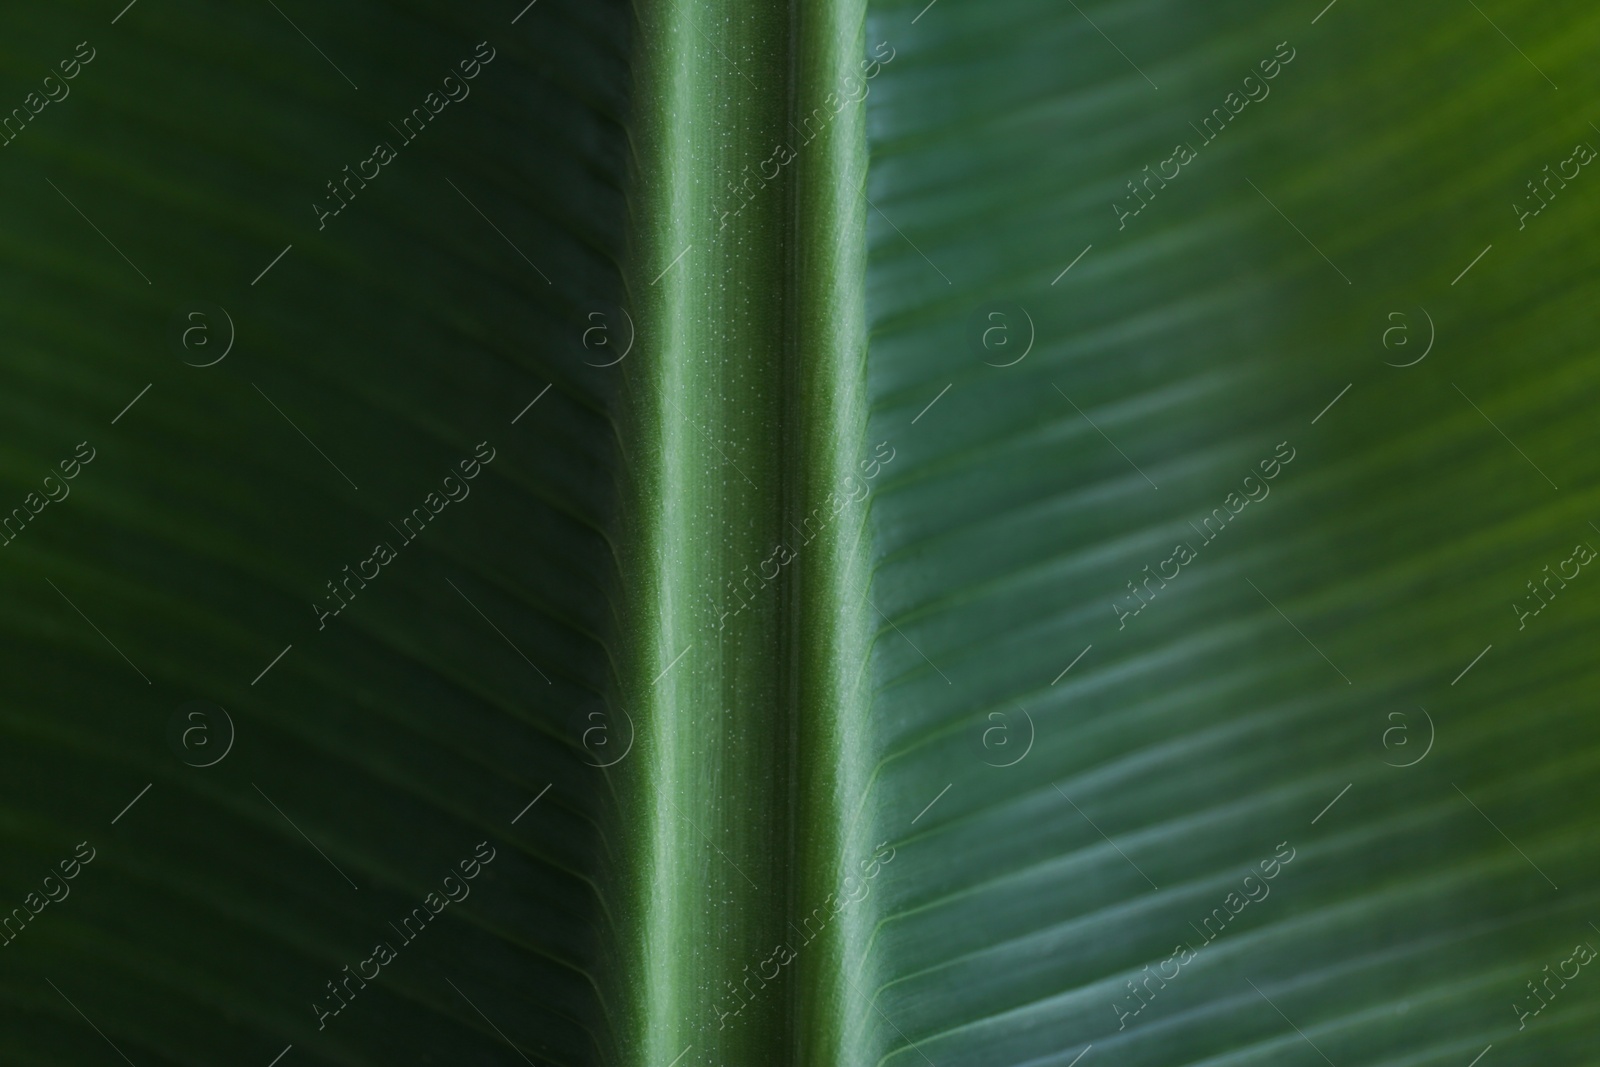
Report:
[[[520,8],[3,16],[5,112],[61,96],[0,147],[6,514],[93,450],[0,547],[0,909],[94,849],[0,949],[8,1064],[606,1054],[630,22]]]

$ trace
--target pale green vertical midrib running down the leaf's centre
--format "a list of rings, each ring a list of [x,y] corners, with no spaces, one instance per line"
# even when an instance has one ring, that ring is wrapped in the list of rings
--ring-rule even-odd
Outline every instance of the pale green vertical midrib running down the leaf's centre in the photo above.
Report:
[[[640,5],[614,1000],[626,1062],[842,1057],[805,923],[866,768],[861,0]],[[862,614],[866,613],[866,614]],[[862,856],[854,853],[861,851]],[[850,853],[850,854],[846,854]]]

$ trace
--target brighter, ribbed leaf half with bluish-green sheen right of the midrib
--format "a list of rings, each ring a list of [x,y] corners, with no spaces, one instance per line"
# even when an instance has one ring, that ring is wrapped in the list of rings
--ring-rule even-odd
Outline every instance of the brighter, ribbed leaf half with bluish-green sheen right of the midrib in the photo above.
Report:
[[[874,5],[843,1062],[1594,1057],[1600,22],[1323,8]]]

